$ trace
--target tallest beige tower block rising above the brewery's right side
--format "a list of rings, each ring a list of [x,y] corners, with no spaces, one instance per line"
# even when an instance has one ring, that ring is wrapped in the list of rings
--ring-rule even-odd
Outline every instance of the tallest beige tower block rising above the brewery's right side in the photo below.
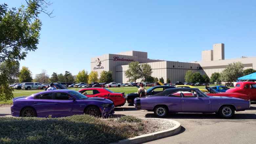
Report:
[[[213,44],[213,61],[224,60],[224,44]]]

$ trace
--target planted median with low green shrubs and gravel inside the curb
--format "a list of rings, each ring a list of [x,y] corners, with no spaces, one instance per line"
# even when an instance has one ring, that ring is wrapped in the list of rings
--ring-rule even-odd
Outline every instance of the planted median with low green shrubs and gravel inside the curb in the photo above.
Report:
[[[88,115],[62,118],[1,117],[0,143],[113,143],[166,130],[176,125],[162,120],[124,116],[100,119]]]

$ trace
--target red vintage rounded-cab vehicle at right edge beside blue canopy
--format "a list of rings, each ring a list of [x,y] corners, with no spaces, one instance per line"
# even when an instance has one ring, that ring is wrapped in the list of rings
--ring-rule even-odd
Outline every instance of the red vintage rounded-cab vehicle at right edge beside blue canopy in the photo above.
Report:
[[[240,81],[236,83],[235,88],[228,89],[226,92],[245,94],[251,101],[256,101],[256,82]]]

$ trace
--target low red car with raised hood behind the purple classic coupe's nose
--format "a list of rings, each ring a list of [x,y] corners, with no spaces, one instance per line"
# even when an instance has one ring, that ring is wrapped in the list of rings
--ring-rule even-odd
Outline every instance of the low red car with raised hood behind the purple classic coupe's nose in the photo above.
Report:
[[[222,96],[222,97],[234,97],[234,98],[239,98],[239,99],[245,99],[245,100],[249,100],[249,97],[245,94],[239,94],[239,93],[230,93],[230,92],[217,92],[215,89],[213,89],[212,87],[205,87],[208,92],[205,93],[208,96]]]

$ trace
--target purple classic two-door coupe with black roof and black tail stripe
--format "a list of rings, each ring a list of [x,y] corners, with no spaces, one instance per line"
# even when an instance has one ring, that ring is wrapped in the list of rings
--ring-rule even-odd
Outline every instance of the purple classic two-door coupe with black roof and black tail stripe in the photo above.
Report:
[[[233,97],[208,97],[197,88],[171,88],[156,95],[136,98],[137,109],[153,111],[157,117],[170,113],[217,113],[233,117],[235,111],[250,108],[250,101]]]

